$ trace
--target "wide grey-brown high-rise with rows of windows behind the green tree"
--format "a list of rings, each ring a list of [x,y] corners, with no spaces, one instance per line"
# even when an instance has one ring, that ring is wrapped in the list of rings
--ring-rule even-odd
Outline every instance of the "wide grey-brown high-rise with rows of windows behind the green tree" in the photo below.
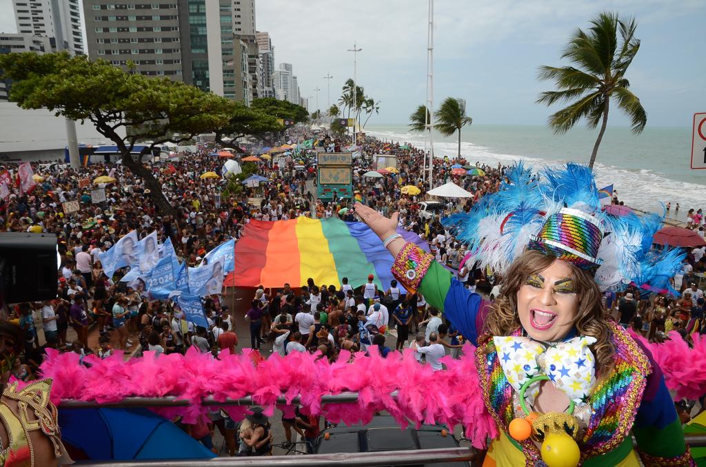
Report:
[[[116,66],[135,64],[143,75],[181,81],[179,5],[135,4],[121,0],[85,0],[88,56]]]

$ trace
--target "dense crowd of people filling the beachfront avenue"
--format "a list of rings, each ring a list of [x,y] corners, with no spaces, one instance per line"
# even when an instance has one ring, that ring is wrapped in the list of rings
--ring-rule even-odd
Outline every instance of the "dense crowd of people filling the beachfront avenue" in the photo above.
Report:
[[[20,325],[24,341],[23,352],[14,356],[11,365],[6,364],[4,372],[18,380],[31,380],[37,375],[47,347],[81,356],[94,353],[100,358],[107,358],[114,349],[140,358],[147,351],[184,353],[193,347],[219,358],[221,352],[234,353],[246,346],[239,342],[236,332],[241,320],[249,324],[249,346],[260,351],[263,358],[270,353],[286,356],[308,351],[318,352],[321,358],[333,362],[342,350],[370,351],[376,347],[385,357],[390,352],[412,348],[417,360],[433,370],[443,369],[440,359],[447,353],[458,358],[464,336],[421,293],[406,293],[395,281],[386,290],[379,290],[372,276],[365,284],[349,284],[345,278],[340,285],[315,284],[309,279],[306,284],[282,284],[280,289],[259,288],[243,311],[229,307],[222,294],[215,293],[203,298],[207,328],[184,321],[183,313],[172,301],[153,299],[139,285],[121,281],[128,272],[125,268],[107,277],[99,255],[133,230],[138,238],[156,231],[160,243],[171,239],[181,259],[196,266],[217,245],[229,238],[238,241],[251,219],[275,221],[306,216],[353,221],[357,219],[352,202],[358,200],[383,216],[399,212],[400,225],[428,241],[436,260],[462,284],[488,302],[498,296],[500,274],[481,269],[472,260],[465,262],[465,245],[441,224],[441,217],[456,210],[467,212],[484,195],[498,190],[505,167],[477,164],[483,175],[457,176],[451,166],[467,165],[468,161],[437,159],[434,177],[454,181],[472,197],[460,202],[444,201],[443,211],[426,217],[419,211],[427,188],[421,173],[424,152],[368,138],[352,148],[357,154],[354,200],[323,202],[316,199],[314,154],[329,146],[345,149],[345,144],[323,134],[315,135],[308,128],[297,127],[285,135],[285,141],[294,144],[310,138],[317,140],[311,150],[278,157],[276,162],[258,163],[258,174],[268,178],[258,187],[234,189],[225,178],[201,178],[208,171],[221,173],[224,161],[212,155],[216,149],[213,144],[201,145],[198,151],[182,154],[179,160],[152,164],[153,174],[174,207],[175,216],[157,209],[145,182],[122,164],[103,162],[81,169],[35,164],[34,172],[41,180],[30,193],[11,193],[1,202],[0,226],[6,231],[56,234],[61,255],[57,298],[4,308],[2,318]],[[257,147],[249,149],[258,152]],[[365,178],[366,171],[381,169],[373,154],[394,155],[397,171],[383,178]],[[98,185],[105,188],[106,200],[93,203],[90,190],[96,188],[92,181],[99,176],[115,181]],[[417,186],[421,193],[402,194],[402,186],[407,185]],[[67,214],[62,203],[71,200],[80,202],[80,210]],[[691,218],[698,216],[700,212]],[[699,288],[700,277],[706,272],[705,249],[695,248],[688,253],[683,274],[674,278],[681,296],[628,288],[622,293],[606,293],[606,308],[621,324],[651,340],[665,339],[673,329],[685,336],[706,332],[705,304]],[[73,333],[68,333],[69,328]],[[285,410],[282,424],[286,443],[292,442],[292,430],[307,440],[316,438],[320,420],[299,413],[296,408]],[[220,411],[212,413],[203,426],[191,425],[187,429],[213,449],[214,427],[224,435],[231,455],[237,451],[263,454],[273,444],[269,421],[262,413],[249,416],[240,425],[239,435],[235,434],[232,420]]]

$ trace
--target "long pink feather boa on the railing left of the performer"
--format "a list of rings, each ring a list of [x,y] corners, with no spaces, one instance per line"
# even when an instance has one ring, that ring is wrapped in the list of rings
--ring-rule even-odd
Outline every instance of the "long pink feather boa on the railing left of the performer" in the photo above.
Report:
[[[116,402],[129,396],[175,396],[191,401],[189,408],[158,410],[164,416],[184,417],[195,423],[208,408],[203,398],[217,401],[252,396],[266,413],[274,411],[277,397],[291,402],[300,396],[302,410],[323,415],[333,423],[367,423],[378,411],[388,411],[400,426],[410,422],[461,424],[474,447],[484,447],[486,439],[498,434],[487,411],[474,363],[474,348],[466,344],[460,360],[446,357],[447,370],[433,372],[429,365],[419,365],[412,351],[404,355],[392,352],[388,358],[371,347],[370,356],[356,353],[347,363],[343,351],[337,362],[317,360],[318,354],[295,352],[282,358],[273,354],[266,360],[254,358],[250,351],[237,355],[221,354],[214,360],[209,353],[191,348],[186,356],[173,353],[158,358],[145,353],[143,358],[124,360],[119,352],[100,360],[87,356],[90,368],[79,365],[76,353],[58,353],[47,349],[42,375],[51,377],[52,401],[61,399]],[[321,404],[321,396],[359,392],[357,402]],[[390,393],[397,391],[397,396]],[[213,407],[210,407],[212,410]],[[237,420],[247,408],[225,406]]]

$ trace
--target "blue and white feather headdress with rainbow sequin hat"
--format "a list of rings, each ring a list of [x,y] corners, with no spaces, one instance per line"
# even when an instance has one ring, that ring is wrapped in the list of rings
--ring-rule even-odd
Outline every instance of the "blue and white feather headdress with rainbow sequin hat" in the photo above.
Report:
[[[590,269],[602,290],[634,283],[652,291],[674,292],[669,279],[681,268],[684,254],[652,248],[652,237],[664,216],[604,214],[592,171],[579,164],[533,174],[519,162],[505,172],[505,178],[497,193],[481,198],[468,214],[453,214],[442,221],[467,244],[481,267],[502,274],[531,245]],[[577,226],[570,224],[571,219],[580,222],[581,218],[604,231],[593,239],[594,245],[588,245],[593,247],[587,248],[593,251],[591,256],[580,257],[581,251],[587,250],[577,250],[576,244],[590,239],[582,238],[575,232]],[[557,226],[561,219],[568,219],[569,225]]]

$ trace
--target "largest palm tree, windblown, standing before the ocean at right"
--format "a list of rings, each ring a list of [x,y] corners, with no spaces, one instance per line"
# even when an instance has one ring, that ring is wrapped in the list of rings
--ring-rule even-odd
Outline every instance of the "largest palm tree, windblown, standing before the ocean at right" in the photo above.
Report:
[[[602,121],[589,163],[593,168],[606,131],[611,97],[615,97],[618,107],[630,116],[633,133],[642,133],[645,129],[647,112],[640,99],[628,90],[630,83],[625,78],[628,66],[640,49],[640,40],[635,38],[635,19],[621,20],[617,13],[599,13],[591,20],[591,25],[586,32],[576,30],[561,54],[562,59],[569,59],[576,68],[539,67],[539,79],[554,80],[558,90],[542,92],[537,103],[549,106],[578,99],[549,116],[548,124],[554,133],[566,133],[582,117],[588,128],[596,128]]]

